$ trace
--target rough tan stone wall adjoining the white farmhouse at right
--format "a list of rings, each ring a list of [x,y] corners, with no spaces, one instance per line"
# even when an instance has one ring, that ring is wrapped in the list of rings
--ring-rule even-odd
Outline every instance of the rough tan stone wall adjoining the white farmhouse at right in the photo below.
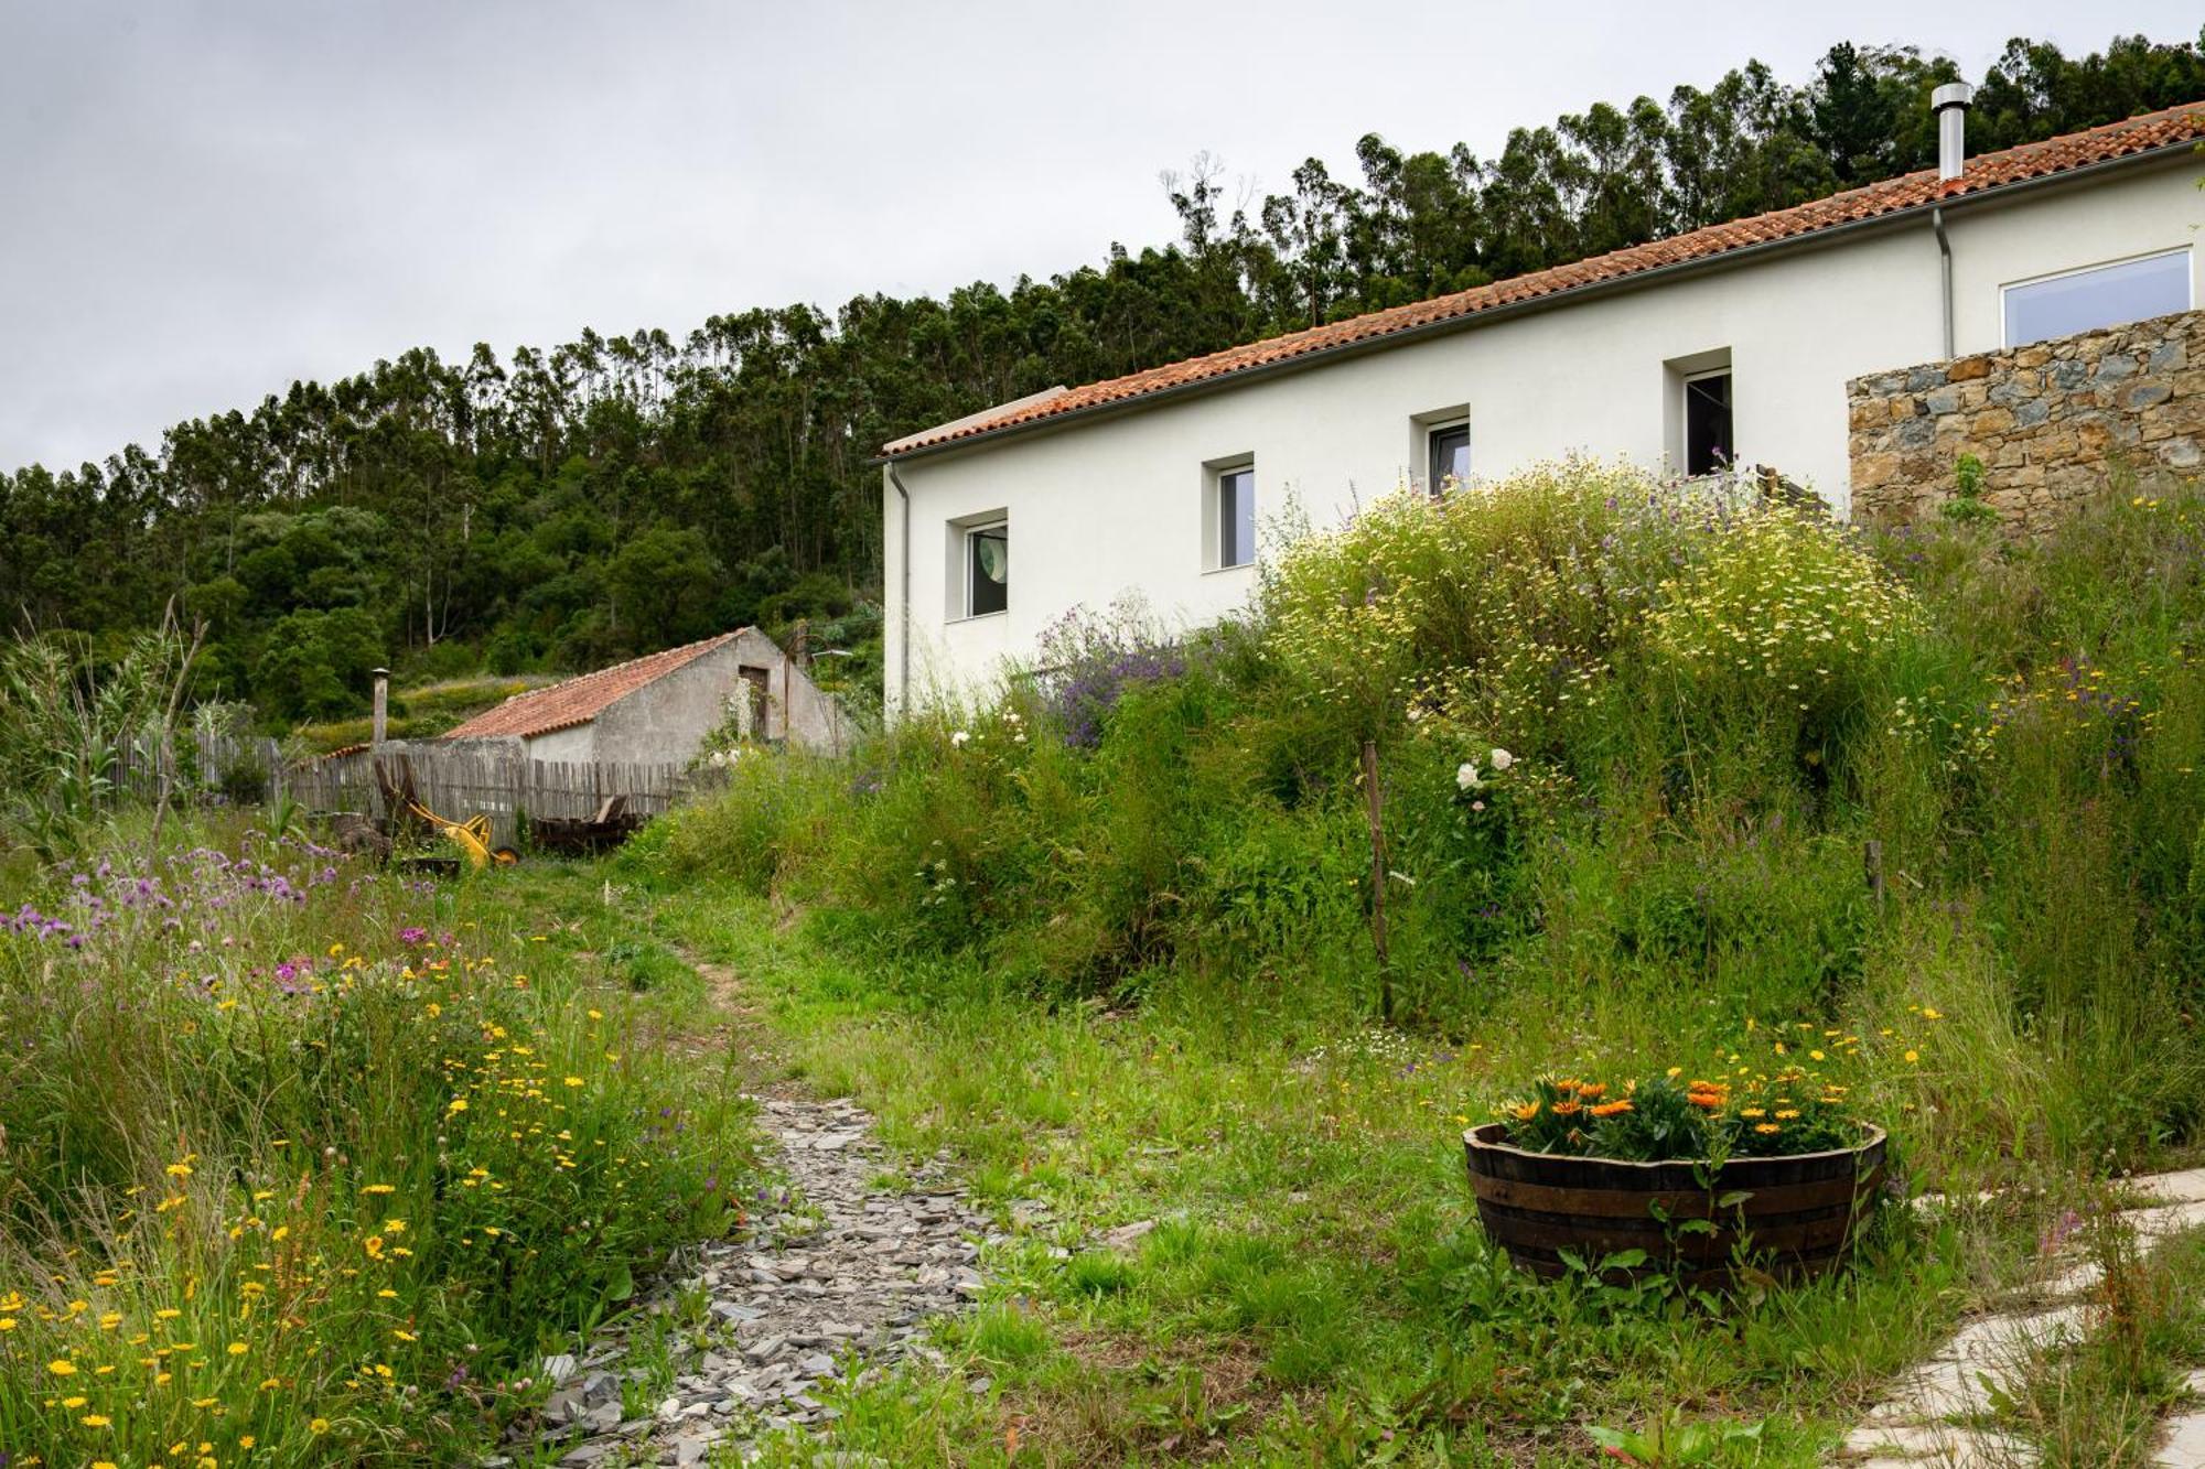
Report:
[[[1962,454],[2009,532],[2044,527],[2108,472],[2205,468],[2205,311],[1846,384],[1852,514],[1907,525],[1956,494]]]

